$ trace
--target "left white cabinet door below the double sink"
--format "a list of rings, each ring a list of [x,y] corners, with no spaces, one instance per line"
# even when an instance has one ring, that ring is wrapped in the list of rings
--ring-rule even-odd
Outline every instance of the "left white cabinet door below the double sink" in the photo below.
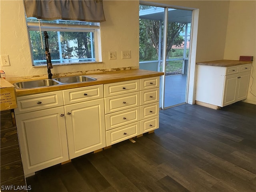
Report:
[[[16,115],[24,174],[67,161],[64,107]]]

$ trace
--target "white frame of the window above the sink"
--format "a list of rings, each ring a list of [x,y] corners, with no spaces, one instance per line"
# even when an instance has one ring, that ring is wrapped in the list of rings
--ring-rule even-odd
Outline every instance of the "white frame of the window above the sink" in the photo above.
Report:
[[[38,20],[38,19],[36,19]],[[72,21],[70,21],[72,22]],[[77,22],[77,21],[74,21]],[[80,22],[80,21],[78,21]],[[90,23],[90,22],[87,22]],[[95,23],[95,22],[94,22]],[[67,65],[67,64],[88,64],[88,63],[96,63],[102,62],[101,58],[101,42],[100,42],[100,23],[95,23],[96,25],[79,25],[79,24],[58,24],[58,23],[47,23],[44,20],[38,20],[38,22],[29,22],[26,18],[27,30],[28,30],[28,38],[29,38],[29,45],[30,45],[30,54],[31,54],[31,61],[33,67],[40,67],[46,66],[46,64],[36,65],[34,64],[34,58],[32,53],[32,46],[31,46],[31,38],[30,38],[30,31],[40,31],[41,38],[44,42],[43,32],[44,31],[59,31],[59,32],[94,32],[94,55],[95,61],[84,61],[84,62],[70,62],[70,63],[54,63],[52,65]],[[43,43],[44,47],[44,43]]]

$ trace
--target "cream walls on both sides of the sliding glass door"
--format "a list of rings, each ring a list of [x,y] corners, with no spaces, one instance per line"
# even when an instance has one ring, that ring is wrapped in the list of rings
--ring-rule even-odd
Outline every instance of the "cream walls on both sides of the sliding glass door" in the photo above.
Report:
[[[255,1],[227,0],[154,0],[158,4],[199,10],[196,62],[234,59],[255,54]],[[54,66],[53,74],[81,74],[105,70],[139,67],[138,0],[104,0],[106,22],[101,23],[102,63]],[[0,54],[8,54],[11,66],[1,67],[6,77],[45,76],[46,67],[32,67],[23,2],[0,1]],[[251,43],[250,43],[251,42]],[[242,47],[240,46],[242,45]],[[122,59],[121,51],[131,50],[131,59]],[[117,59],[109,60],[108,51],[116,51]],[[254,62],[254,74],[256,72]],[[255,95],[255,80],[252,92]],[[252,85],[252,78],[250,79]],[[248,102],[255,97],[248,94]]]

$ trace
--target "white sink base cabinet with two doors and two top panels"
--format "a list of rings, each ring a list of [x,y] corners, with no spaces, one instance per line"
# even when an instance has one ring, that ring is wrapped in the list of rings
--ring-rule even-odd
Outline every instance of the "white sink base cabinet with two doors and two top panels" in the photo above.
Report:
[[[26,176],[106,146],[103,85],[21,96],[17,102]]]

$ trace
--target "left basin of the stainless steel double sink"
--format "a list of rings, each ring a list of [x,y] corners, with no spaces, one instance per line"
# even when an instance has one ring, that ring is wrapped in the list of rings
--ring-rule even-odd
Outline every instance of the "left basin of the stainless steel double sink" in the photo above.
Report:
[[[46,86],[54,86],[60,84],[52,79],[43,79],[43,80],[34,80],[34,81],[23,81],[14,83],[14,86],[18,89],[29,89],[29,88],[38,88]]]

